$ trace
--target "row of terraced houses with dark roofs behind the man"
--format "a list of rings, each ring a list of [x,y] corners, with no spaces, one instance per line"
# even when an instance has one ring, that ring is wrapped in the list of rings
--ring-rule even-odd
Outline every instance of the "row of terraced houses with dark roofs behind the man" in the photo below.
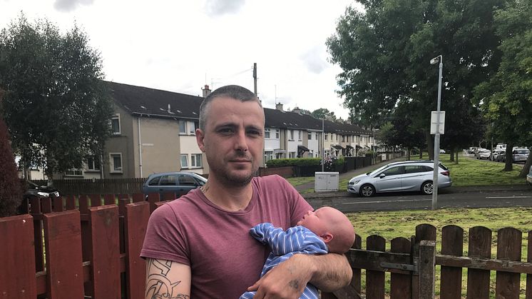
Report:
[[[143,178],[150,173],[192,171],[208,175],[209,166],[198,148],[202,96],[107,82],[114,99],[113,135],[106,142],[103,163],[87,161],[86,168],[65,178]],[[265,111],[264,161],[276,158],[354,156],[375,145],[373,133],[347,123],[322,121],[282,104]],[[324,131],[324,141],[322,139]],[[97,160],[96,157],[93,158]]]

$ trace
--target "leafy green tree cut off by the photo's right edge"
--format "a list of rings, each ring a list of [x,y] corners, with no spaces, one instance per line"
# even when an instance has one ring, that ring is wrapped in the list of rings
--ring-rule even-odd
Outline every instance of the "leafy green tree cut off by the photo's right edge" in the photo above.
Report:
[[[503,39],[501,64],[496,74],[476,88],[476,101],[487,120],[493,123],[493,136],[506,141],[506,165],[512,170],[512,145],[532,145],[532,4],[516,1],[506,10],[496,11],[496,33]],[[531,156],[521,171],[525,177]]]

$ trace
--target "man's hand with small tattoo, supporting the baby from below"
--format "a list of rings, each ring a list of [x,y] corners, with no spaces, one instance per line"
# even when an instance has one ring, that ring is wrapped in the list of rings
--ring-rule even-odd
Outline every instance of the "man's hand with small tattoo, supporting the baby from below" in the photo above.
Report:
[[[276,265],[266,275],[247,288],[256,290],[255,298],[300,298],[305,286],[314,273],[312,259],[314,255],[296,254],[292,258]]]

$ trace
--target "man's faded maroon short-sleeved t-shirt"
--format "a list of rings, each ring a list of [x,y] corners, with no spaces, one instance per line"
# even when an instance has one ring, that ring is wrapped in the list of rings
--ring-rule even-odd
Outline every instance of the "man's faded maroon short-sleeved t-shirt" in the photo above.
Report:
[[[150,217],[140,256],[190,265],[191,298],[238,298],[260,278],[270,253],[250,228],[270,222],[287,230],[314,210],[280,176],[253,178],[251,184],[244,211],[222,210],[199,189],[160,206]]]

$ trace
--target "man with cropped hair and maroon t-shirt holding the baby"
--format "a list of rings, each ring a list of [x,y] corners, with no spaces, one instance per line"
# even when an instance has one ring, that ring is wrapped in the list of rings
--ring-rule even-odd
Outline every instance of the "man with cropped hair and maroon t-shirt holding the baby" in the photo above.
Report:
[[[254,178],[262,159],[265,116],[246,88],[224,86],[200,107],[196,141],[208,183],[150,217],[141,256],[147,258],[145,298],[299,298],[307,283],[322,290],[347,285],[344,255],[294,255],[260,278],[270,249],[249,234],[270,222],[296,225],[312,207],[279,176]]]

